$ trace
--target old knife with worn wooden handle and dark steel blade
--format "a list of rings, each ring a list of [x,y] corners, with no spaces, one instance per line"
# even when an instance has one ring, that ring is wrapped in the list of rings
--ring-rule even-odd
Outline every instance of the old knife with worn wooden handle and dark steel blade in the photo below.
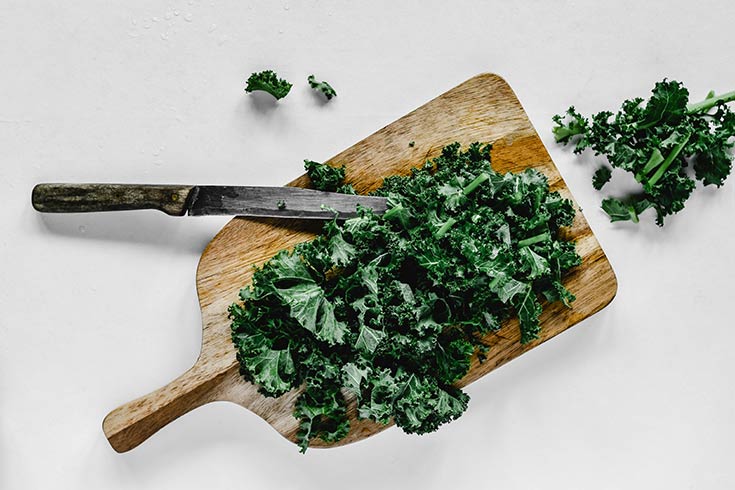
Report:
[[[157,209],[171,216],[238,215],[340,219],[357,206],[383,214],[384,197],[339,194],[300,187],[152,184],[38,184],[31,203],[42,213],[88,213]]]

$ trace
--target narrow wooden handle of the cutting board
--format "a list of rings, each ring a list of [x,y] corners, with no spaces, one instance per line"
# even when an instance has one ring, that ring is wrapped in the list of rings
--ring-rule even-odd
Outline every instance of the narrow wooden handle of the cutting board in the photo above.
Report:
[[[197,363],[166,386],[116,408],[102,422],[107,440],[119,453],[133,449],[169,422],[214,401],[232,369],[237,365],[212,377],[211,368]]]

